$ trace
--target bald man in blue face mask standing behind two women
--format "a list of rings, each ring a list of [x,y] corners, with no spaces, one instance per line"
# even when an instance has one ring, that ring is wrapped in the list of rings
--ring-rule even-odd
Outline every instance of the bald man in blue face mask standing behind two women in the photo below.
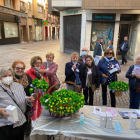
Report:
[[[86,46],[84,46],[83,48],[82,48],[82,55],[81,56],[79,56],[79,60],[78,60],[78,62],[79,63],[81,63],[82,65],[84,65],[85,64],[85,57],[88,55],[88,47],[86,47]]]

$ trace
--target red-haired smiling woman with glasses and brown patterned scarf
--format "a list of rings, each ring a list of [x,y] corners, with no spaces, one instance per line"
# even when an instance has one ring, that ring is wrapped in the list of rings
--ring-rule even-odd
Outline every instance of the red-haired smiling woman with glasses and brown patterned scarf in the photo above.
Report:
[[[26,95],[30,96],[29,89],[31,88],[30,85],[32,84],[32,78],[24,72],[25,70],[24,62],[15,61],[12,64],[12,68],[14,71],[13,81],[16,83],[20,83],[23,86]],[[26,112],[28,113],[28,111],[31,110],[32,110],[31,107],[27,107]],[[28,117],[28,121],[26,122],[25,125],[25,135],[29,136],[31,133],[31,119],[29,118],[29,116],[27,117]]]

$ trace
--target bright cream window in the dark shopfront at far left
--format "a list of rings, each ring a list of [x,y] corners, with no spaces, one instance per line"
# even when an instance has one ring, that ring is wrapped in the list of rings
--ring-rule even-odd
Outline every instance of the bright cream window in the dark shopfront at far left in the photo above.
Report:
[[[17,23],[4,22],[5,38],[18,37]]]

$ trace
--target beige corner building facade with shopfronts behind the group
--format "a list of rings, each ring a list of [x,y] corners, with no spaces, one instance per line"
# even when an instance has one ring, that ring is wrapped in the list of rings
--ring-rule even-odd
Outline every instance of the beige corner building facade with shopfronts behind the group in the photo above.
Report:
[[[51,0],[52,8],[60,10],[60,50],[81,54],[87,46],[93,54],[96,41],[103,38],[103,48],[113,40],[115,54],[128,36],[128,57],[140,54],[140,1],[138,0]]]

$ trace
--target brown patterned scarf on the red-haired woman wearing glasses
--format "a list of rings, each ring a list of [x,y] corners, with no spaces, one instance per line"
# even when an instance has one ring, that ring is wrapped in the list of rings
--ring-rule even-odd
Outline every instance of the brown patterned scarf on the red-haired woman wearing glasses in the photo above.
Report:
[[[29,84],[27,75],[25,73],[22,75],[22,77],[15,74],[15,76],[13,77],[13,81],[16,83],[20,83],[23,88],[26,88]]]

